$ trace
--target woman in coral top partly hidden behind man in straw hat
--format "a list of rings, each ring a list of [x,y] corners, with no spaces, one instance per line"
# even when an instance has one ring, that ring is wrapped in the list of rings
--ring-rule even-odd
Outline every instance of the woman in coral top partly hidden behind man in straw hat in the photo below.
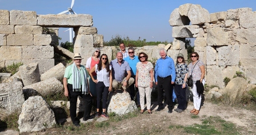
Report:
[[[90,72],[90,69],[93,68],[95,66],[95,64],[99,63],[99,56],[101,56],[101,51],[99,50],[99,48],[95,48],[93,51],[93,54],[91,55],[90,58],[87,59],[86,61],[86,69],[88,72]],[[93,78],[96,79],[96,73],[93,72],[93,76],[91,76],[91,78],[89,79],[89,87],[90,87],[90,91],[91,91],[91,95],[93,95],[93,103],[94,105],[96,105],[96,84],[93,82]]]

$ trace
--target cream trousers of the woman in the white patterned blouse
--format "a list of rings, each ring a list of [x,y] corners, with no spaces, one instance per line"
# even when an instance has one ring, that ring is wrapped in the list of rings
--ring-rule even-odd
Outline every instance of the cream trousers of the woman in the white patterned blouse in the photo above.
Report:
[[[138,87],[139,89],[139,102],[141,103],[141,109],[145,108],[145,93],[147,101],[147,109],[151,108],[151,92],[152,88],[150,87]]]

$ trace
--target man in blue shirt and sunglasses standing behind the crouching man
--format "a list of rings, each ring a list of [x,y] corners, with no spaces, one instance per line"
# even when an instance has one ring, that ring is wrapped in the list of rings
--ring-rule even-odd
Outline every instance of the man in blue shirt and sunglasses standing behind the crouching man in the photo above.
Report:
[[[129,66],[131,68],[131,77],[133,77],[133,79],[135,80],[135,75],[136,75],[136,65],[139,62],[138,56],[134,55],[134,48],[130,47],[128,48],[128,54],[129,56],[124,58],[123,60],[125,60],[126,62],[129,63]],[[135,81],[134,81],[135,83]],[[136,91],[134,89],[134,83],[130,85],[129,89],[130,89],[130,96],[131,96],[131,100],[135,99],[135,93],[137,92],[137,101],[138,101],[138,106],[139,104],[139,90],[136,87]]]

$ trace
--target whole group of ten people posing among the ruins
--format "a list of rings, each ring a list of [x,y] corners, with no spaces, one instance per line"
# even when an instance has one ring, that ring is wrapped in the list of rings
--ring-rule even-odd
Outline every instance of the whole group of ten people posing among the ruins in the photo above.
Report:
[[[85,112],[83,120],[86,121],[90,116],[91,107],[94,103],[97,106],[95,117],[109,117],[106,113],[107,98],[109,92],[117,92],[121,86],[123,92],[129,92],[131,100],[137,97],[138,107],[141,107],[142,114],[145,109],[145,97],[147,113],[151,114],[151,91],[155,84],[158,89],[158,108],[163,107],[163,92],[166,95],[168,112],[172,113],[173,89],[177,94],[178,107],[176,112],[183,112],[186,109],[186,80],[189,75],[193,76],[194,109],[190,113],[198,114],[201,105],[201,95],[203,92],[205,67],[199,59],[197,52],[190,55],[192,63],[187,66],[183,54],[177,55],[177,62],[167,56],[164,48],[159,50],[161,58],[155,63],[155,67],[149,62],[148,55],[140,52],[135,56],[134,48],[125,50],[125,44],[119,44],[120,50],[117,52],[116,59],[109,62],[106,54],[101,55],[99,48],[95,48],[93,55],[87,59],[86,67],[81,65],[83,59],[80,54],[75,54],[74,63],[66,68],[63,78],[65,96],[70,99],[70,117],[75,126],[79,125],[76,116],[77,98],[81,96],[85,99]],[[127,91],[129,89],[129,91]],[[102,103],[102,108],[101,108]],[[102,109],[102,113],[99,111]]]

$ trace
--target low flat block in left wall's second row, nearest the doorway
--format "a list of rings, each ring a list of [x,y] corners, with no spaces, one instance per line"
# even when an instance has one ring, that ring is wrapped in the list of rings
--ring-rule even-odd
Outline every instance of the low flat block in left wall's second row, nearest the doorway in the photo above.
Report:
[[[41,26],[15,26],[15,34],[42,34],[43,28]]]

